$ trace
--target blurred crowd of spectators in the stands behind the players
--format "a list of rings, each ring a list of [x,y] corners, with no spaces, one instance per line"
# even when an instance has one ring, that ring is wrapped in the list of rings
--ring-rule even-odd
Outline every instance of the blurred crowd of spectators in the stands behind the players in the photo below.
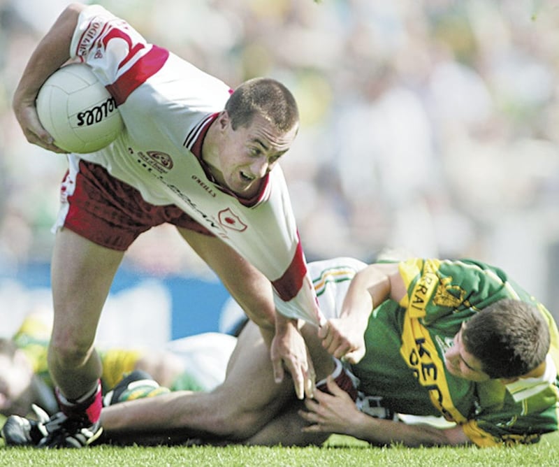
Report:
[[[389,249],[502,266],[559,317],[559,1],[99,1],[232,87],[272,76],[302,124],[282,160],[307,259]],[[66,161],[11,96],[65,1],[0,0],[0,271],[48,263]],[[173,229],[125,267],[210,272]]]

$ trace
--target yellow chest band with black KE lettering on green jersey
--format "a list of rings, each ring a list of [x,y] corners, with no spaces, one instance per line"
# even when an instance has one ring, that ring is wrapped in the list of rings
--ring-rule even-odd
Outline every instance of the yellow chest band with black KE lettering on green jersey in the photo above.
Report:
[[[406,310],[402,330],[402,347],[400,354],[421,386],[429,392],[435,408],[440,410],[449,422],[464,423],[466,418],[454,407],[450,396],[447,378],[444,373],[444,361],[439,357],[437,347],[429,331],[412,317]]]

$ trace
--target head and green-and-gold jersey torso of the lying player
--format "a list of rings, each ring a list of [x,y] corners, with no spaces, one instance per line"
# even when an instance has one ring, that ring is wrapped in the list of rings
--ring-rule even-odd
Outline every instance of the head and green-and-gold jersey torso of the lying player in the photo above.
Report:
[[[479,261],[410,259],[359,279],[370,288],[379,268],[390,295],[373,296],[367,352],[351,365],[360,391],[393,412],[442,415],[480,446],[557,429],[559,336],[542,303]]]

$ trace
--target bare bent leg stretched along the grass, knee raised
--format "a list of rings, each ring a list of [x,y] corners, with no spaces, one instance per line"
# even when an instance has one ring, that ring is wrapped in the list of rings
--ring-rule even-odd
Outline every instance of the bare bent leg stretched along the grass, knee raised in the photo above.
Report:
[[[175,391],[154,398],[112,405],[101,424],[112,440],[134,436],[245,440],[295,398],[286,378],[275,383],[268,347],[249,323],[238,338],[226,380],[210,393]]]

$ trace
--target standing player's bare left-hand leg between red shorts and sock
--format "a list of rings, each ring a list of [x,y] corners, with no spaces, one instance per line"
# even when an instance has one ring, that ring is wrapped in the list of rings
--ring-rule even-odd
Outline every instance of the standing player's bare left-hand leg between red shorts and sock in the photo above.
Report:
[[[95,332],[123,252],[101,247],[68,229],[57,232],[52,256],[55,316],[49,369],[67,398],[92,389],[101,375]]]

